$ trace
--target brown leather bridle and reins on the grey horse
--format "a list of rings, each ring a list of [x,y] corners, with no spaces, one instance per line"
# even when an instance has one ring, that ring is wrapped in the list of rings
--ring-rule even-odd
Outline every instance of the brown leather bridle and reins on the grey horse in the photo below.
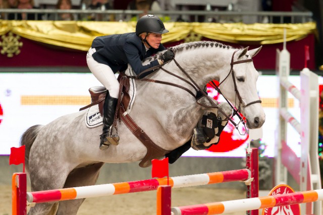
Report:
[[[128,78],[133,78],[133,79],[136,79],[136,80],[138,80],[138,81],[145,81],[145,82],[153,82],[153,83],[158,83],[158,84],[165,84],[165,85],[170,85],[170,86],[174,86],[174,87],[177,87],[177,88],[180,88],[180,89],[182,89],[182,90],[185,90],[185,91],[187,91],[188,93],[190,93],[193,97],[195,97],[195,99],[196,99],[196,103],[198,104],[198,105],[201,105],[201,106],[203,106],[203,107],[207,107],[207,108],[217,108],[224,116],[226,116],[226,118],[225,119],[222,119],[222,120],[229,120],[234,126],[235,126],[235,128],[236,129],[238,129],[238,125],[240,124],[240,122],[242,122],[242,124],[244,125],[244,127],[245,127],[245,122],[244,122],[244,120],[243,120],[243,117],[241,117],[240,116],[240,114],[239,113],[241,113],[240,112],[240,110],[241,110],[241,107],[244,109],[245,107],[248,107],[248,106],[250,106],[250,105],[252,105],[252,104],[256,104],[256,103],[261,103],[261,100],[255,100],[255,101],[253,101],[253,102],[250,102],[250,103],[248,103],[248,104],[245,104],[244,103],[244,101],[242,100],[242,98],[241,98],[241,96],[240,96],[240,93],[239,93],[239,91],[238,91],[238,88],[237,88],[237,83],[236,83],[236,78],[235,78],[235,71],[234,71],[234,69],[233,69],[233,65],[235,65],[235,64],[240,64],[240,63],[245,63],[245,62],[251,62],[252,61],[252,58],[250,58],[250,59],[245,59],[245,60],[238,60],[238,61],[234,61],[234,55],[235,55],[235,53],[238,51],[239,49],[236,49],[234,52],[233,52],[233,54],[232,54],[232,57],[231,57],[231,63],[230,63],[230,65],[231,65],[231,69],[230,69],[230,71],[229,71],[229,73],[228,73],[228,75],[226,76],[226,78],[217,86],[213,81],[211,81],[210,82],[210,85],[214,88],[214,89],[216,89],[221,95],[223,95],[222,93],[221,93],[221,91],[220,91],[220,88],[219,88],[219,86],[225,81],[225,80],[227,80],[227,78],[230,76],[230,74],[232,74],[232,79],[233,79],[233,84],[234,84],[234,90],[235,90],[235,93],[236,93],[236,98],[238,97],[238,99],[239,99],[239,106],[238,106],[238,108],[236,108],[236,104],[235,104],[235,107],[233,107],[232,105],[231,105],[231,103],[226,99],[226,101],[229,103],[229,105],[232,107],[232,109],[234,110],[233,111],[233,113],[231,114],[231,117],[230,116],[228,116],[220,107],[219,107],[219,105],[218,104],[216,104],[216,103],[214,103],[214,101],[196,84],[196,82],[190,77],[190,75],[189,74],[187,74],[186,73],[186,71],[183,69],[183,67],[176,61],[176,59],[175,58],[173,58],[173,60],[174,60],[174,62],[175,62],[175,64],[177,65],[177,67],[186,75],[186,77],[190,80],[190,82],[189,81],[187,81],[187,80],[185,80],[185,79],[183,79],[182,77],[180,77],[180,76],[177,76],[177,75],[175,75],[175,74],[173,74],[173,73],[171,73],[170,71],[168,71],[167,69],[165,69],[165,68],[163,68],[162,66],[164,66],[165,64],[161,64],[161,65],[157,65],[157,66],[154,66],[154,67],[152,67],[152,68],[149,68],[149,69],[146,69],[146,70],[144,70],[144,71],[142,71],[137,77],[128,77]],[[168,61],[167,63],[169,63],[170,61]],[[150,71],[150,70],[154,70],[154,69],[161,69],[161,70],[163,70],[163,71],[166,71],[166,73],[168,73],[168,74],[170,74],[170,75],[172,75],[172,76],[174,76],[174,77],[176,77],[176,78],[178,78],[178,79],[180,79],[180,80],[182,80],[182,81],[184,81],[184,82],[186,82],[187,84],[189,84],[190,86],[192,86],[193,87],[193,89],[196,91],[196,93],[193,93],[191,90],[189,90],[189,89],[187,89],[187,88],[185,88],[185,87],[183,87],[183,86],[181,86],[181,85],[177,85],[177,84],[174,84],[174,83],[170,83],[170,82],[164,82],[164,81],[158,81],[158,80],[153,80],[153,79],[146,79],[146,78],[143,78],[143,79],[138,79],[138,77],[140,77],[140,75],[142,75],[142,74],[144,74],[144,73],[146,73],[147,71]],[[199,97],[199,98],[196,98],[196,95],[198,94],[198,93],[200,93],[200,94],[202,94],[202,97],[205,97],[209,102],[210,102],[210,104],[211,105],[204,105],[204,104],[201,104],[201,103],[199,103],[198,102],[198,100],[199,99],[201,99],[202,97]],[[242,113],[241,113],[242,114]],[[235,123],[234,121],[233,121],[233,117],[234,117],[234,115],[237,115],[238,117],[239,117],[239,119],[240,119],[240,121],[238,122],[238,124],[237,123]],[[242,114],[243,116],[244,116],[244,113]],[[246,129],[245,129],[246,130]],[[238,129],[238,131],[239,131],[239,129]],[[239,131],[239,133],[240,133],[240,131]],[[240,133],[241,134],[241,133]],[[245,133],[244,133],[245,134]],[[244,134],[242,134],[242,135],[244,135]]]

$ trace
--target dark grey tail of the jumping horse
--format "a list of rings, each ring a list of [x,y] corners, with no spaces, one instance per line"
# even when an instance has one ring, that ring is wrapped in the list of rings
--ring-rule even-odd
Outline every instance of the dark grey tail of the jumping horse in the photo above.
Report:
[[[33,125],[30,128],[28,128],[21,136],[20,139],[20,146],[26,146],[25,148],[25,162],[26,162],[26,167],[28,171],[28,161],[29,161],[29,153],[30,153],[30,148],[35,141],[38,131],[43,125]]]

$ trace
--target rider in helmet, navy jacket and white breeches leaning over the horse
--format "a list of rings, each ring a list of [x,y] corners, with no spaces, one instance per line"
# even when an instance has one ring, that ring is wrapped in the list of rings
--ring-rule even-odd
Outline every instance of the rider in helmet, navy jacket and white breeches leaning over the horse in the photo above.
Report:
[[[138,75],[145,69],[171,60],[174,53],[167,50],[160,58],[147,65],[142,65],[141,62],[144,58],[166,49],[160,41],[161,35],[168,32],[157,16],[145,15],[138,20],[136,32],[100,36],[93,40],[86,55],[87,65],[95,78],[107,89],[103,105],[103,132],[100,135],[100,150],[106,150],[111,144],[119,144],[119,136],[111,135],[110,132],[119,94],[119,82],[115,73],[126,70],[129,63],[135,74]]]

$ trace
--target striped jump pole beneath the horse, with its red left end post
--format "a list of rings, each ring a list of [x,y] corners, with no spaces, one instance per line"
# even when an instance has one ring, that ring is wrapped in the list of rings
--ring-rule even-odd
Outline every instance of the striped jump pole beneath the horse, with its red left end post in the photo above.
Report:
[[[232,181],[247,181],[251,178],[248,169],[213,172],[205,174],[170,177],[169,184],[173,188],[216,184]],[[19,182],[17,185],[16,181]],[[72,200],[132,192],[156,190],[158,186],[167,185],[167,178],[140,181],[101,184],[37,192],[27,191],[26,173],[15,173],[13,176],[13,214],[25,215],[28,203]],[[19,187],[19,189],[17,189]],[[26,195],[27,194],[27,195]],[[14,212],[17,211],[17,212]]]

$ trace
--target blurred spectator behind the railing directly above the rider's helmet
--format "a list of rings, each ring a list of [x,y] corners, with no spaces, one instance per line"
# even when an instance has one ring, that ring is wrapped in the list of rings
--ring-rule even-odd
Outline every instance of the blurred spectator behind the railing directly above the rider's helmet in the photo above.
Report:
[[[158,12],[161,11],[159,3],[154,0],[133,0],[128,4],[127,10],[134,10],[134,11],[143,11],[142,14],[139,14],[139,18],[148,14],[148,11]],[[155,13],[153,13],[156,15]],[[157,15],[158,17],[162,17]],[[136,21],[137,16],[132,15],[131,17],[127,17],[127,20]],[[164,21],[164,20],[163,20]]]

